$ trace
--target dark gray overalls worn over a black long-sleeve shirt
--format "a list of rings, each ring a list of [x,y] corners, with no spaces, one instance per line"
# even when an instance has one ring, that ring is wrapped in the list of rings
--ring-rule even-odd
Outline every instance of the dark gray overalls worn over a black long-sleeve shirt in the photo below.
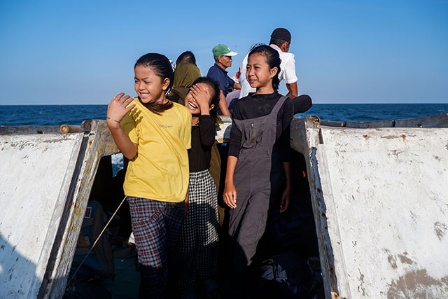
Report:
[[[258,241],[265,232],[269,204],[278,202],[283,184],[283,167],[276,141],[277,114],[287,97],[281,97],[267,116],[235,119],[241,131],[241,149],[235,167],[237,207],[230,209],[229,235],[232,250],[230,274],[239,276],[255,255]],[[237,277],[233,277],[236,279]]]

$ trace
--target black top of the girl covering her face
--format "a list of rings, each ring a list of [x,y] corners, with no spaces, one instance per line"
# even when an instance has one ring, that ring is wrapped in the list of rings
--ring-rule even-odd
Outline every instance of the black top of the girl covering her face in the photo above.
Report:
[[[211,116],[200,116],[199,124],[191,127],[191,148],[188,150],[190,172],[209,169],[215,134],[215,120]]]

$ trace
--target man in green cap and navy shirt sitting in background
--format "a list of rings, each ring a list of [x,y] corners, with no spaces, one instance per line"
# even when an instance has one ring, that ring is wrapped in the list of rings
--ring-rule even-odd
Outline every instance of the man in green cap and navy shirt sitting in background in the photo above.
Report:
[[[225,69],[232,67],[232,56],[235,56],[238,53],[231,51],[228,46],[225,46],[222,43],[218,46],[214,46],[211,52],[213,52],[215,64],[209,69],[207,77],[218,82],[219,87],[221,88],[219,109],[221,109],[224,116],[230,116],[225,96],[228,94],[229,88],[241,89],[241,85],[233,81],[232,78],[228,76],[228,72],[225,71]]]

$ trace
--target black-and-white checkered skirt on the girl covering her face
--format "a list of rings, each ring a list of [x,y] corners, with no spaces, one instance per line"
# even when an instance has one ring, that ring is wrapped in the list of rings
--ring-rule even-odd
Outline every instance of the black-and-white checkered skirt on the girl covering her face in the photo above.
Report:
[[[181,234],[179,288],[189,288],[197,278],[218,272],[218,204],[216,185],[209,170],[190,172],[188,214]]]

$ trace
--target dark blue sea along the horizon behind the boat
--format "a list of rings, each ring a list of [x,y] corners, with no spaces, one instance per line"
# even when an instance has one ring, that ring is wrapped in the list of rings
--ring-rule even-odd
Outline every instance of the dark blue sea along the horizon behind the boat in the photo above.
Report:
[[[86,119],[106,119],[106,105],[0,106],[0,125],[80,125]],[[447,104],[314,104],[297,117],[322,120],[373,121],[419,118],[448,113]]]

